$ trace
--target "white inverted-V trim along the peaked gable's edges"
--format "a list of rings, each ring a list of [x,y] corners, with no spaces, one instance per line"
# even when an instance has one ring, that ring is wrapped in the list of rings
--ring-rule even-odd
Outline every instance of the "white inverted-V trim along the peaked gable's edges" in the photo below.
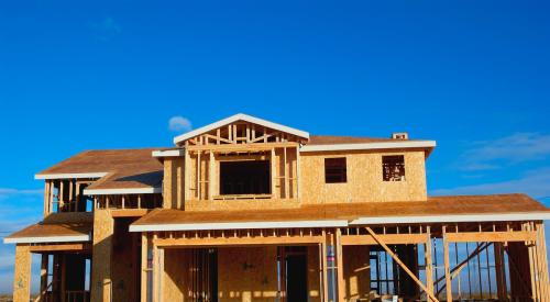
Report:
[[[282,124],[277,124],[277,123],[274,123],[274,122],[262,120],[262,119],[258,119],[258,118],[254,118],[254,116],[251,116],[251,115],[248,115],[248,114],[244,114],[244,113],[238,113],[235,115],[226,118],[223,120],[220,120],[218,122],[211,123],[209,125],[201,126],[199,128],[189,131],[189,132],[184,133],[182,135],[178,135],[178,136],[174,137],[174,144],[177,145],[178,143],[182,143],[184,141],[193,138],[193,137],[195,137],[197,135],[207,133],[209,131],[222,127],[224,125],[228,125],[228,124],[231,124],[231,123],[234,123],[234,122],[238,122],[238,121],[244,121],[244,122],[249,122],[249,123],[254,123],[254,124],[258,124],[258,125],[262,125],[262,126],[265,126],[265,127],[268,127],[268,128],[278,130],[280,132],[286,132],[286,133],[289,133],[289,134],[293,134],[293,135],[296,135],[296,136],[299,136],[299,137],[309,138],[309,133],[307,133],[305,131],[293,128],[293,127],[289,127],[289,126],[285,126],[285,125],[282,125]]]

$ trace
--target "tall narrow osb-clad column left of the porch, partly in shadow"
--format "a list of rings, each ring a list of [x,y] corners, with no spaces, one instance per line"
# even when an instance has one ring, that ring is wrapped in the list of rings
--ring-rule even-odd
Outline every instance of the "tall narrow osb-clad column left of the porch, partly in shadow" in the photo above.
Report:
[[[114,222],[110,210],[96,210],[94,213],[94,256],[91,268],[91,301],[111,299],[111,254]]]

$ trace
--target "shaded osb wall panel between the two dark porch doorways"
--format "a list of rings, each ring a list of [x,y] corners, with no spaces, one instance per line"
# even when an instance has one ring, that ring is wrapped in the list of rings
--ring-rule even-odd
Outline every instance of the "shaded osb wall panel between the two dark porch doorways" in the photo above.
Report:
[[[274,301],[277,295],[277,247],[218,249],[220,301]]]

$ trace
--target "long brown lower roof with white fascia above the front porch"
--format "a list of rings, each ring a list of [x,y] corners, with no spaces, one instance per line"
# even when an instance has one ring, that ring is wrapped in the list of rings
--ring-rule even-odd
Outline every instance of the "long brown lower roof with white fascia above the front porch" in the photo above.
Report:
[[[341,227],[382,223],[548,220],[550,209],[526,194],[430,197],[427,201],[307,204],[298,209],[204,211],[157,209],[131,232]]]

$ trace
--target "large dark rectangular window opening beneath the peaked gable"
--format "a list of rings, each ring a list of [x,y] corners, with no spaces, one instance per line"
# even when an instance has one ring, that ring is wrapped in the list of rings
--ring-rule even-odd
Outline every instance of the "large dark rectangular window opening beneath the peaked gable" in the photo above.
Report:
[[[270,194],[270,160],[221,161],[220,194]]]

